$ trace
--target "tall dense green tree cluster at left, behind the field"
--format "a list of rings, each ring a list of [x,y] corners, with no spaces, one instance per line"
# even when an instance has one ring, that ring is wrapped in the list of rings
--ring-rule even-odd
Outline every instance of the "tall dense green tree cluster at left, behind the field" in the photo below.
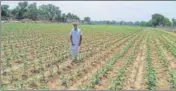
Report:
[[[28,2],[19,2],[18,6],[12,10],[8,5],[1,5],[2,20],[8,19],[31,19],[36,20],[48,20],[58,22],[71,22],[80,21],[80,18],[72,13],[62,13],[59,7],[52,4],[41,5],[39,8],[36,3],[28,4]]]

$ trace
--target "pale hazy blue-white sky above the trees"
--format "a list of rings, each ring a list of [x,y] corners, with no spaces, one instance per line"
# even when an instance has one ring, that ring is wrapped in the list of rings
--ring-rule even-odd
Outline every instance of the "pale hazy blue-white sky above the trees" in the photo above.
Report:
[[[8,4],[10,9],[17,6],[19,1],[1,1]],[[172,19],[176,18],[176,1],[29,1],[42,4],[53,4],[63,13],[71,12],[81,19],[86,16],[92,20],[116,21],[148,21],[154,13],[160,13]]]

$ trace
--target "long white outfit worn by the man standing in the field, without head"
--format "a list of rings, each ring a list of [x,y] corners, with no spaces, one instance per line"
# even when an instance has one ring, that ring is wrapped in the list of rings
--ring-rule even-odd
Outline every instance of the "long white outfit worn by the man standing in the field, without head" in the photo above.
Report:
[[[79,49],[80,49],[79,42],[80,42],[80,36],[82,35],[82,32],[80,29],[77,29],[77,30],[72,29],[70,32],[70,35],[72,35],[72,41],[74,44],[74,46],[72,46],[72,44],[70,45],[71,55],[72,55],[72,58],[75,58],[78,56],[78,53],[79,53]]]

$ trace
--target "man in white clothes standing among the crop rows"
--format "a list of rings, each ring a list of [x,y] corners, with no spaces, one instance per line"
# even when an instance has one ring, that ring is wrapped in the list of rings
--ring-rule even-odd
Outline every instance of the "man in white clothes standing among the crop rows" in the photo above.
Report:
[[[82,32],[78,28],[78,23],[73,23],[73,29],[70,32],[72,61],[77,60],[81,41],[82,41]]]

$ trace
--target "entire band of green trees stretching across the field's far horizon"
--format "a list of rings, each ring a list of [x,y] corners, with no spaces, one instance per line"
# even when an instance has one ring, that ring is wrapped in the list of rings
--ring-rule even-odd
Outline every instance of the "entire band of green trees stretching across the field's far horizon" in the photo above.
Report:
[[[30,19],[33,21],[47,20],[56,22],[72,22],[79,21],[82,24],[114,24],[114,25],[131,25],[131,26],[174,26],[176,27],[176,19],[171,21],[161,15],[153,14],[149,21],[92,21],[90,17],[81,20],[77,15],[72,13],[62,13],[59,7],[52,4],[41,5],[37,7],[36,3],[28,4],[28,2],[19,2],[18,6],[10,10],[8,5],[1,5],[1,20],[23,20]]]

